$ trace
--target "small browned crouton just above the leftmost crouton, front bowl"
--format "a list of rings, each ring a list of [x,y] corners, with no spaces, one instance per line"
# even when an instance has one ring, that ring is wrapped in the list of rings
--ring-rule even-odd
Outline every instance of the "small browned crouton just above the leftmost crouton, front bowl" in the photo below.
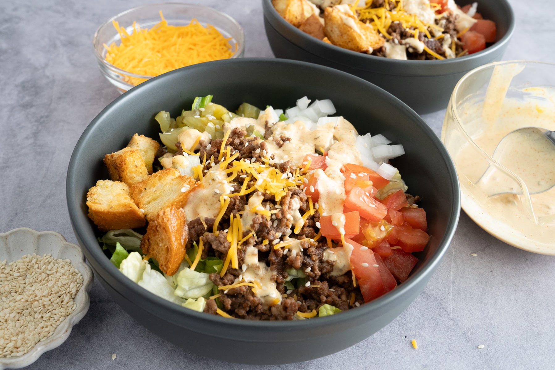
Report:
[[[148,177],[147,165],[137,148],[125,147],[105,155],[104,165],[108,167],[112,181],[122,181],[129,187]]]

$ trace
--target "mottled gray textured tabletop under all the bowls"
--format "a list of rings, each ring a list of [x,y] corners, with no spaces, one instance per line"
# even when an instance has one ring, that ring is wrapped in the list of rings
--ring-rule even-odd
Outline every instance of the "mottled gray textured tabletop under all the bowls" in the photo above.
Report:
[[[258,0],[189,2],[237,19],[245,29],[245,56],[273,57]],[[97,69],[92,35],[109,17],[143,3],[0,1],[0,232],[54,230],[75,242],[65,205],[69,157],[88,123],[118,96]],[[511,3],[517,24],[504,59],[553,62],[555,3]],[[424,116],[438,134],[444,114]],[[342,352],[274,368],[553,368],[553,271],[553,257],[504,244],[463,213],[437,273],[396,320]],[[258,368],[201,358],[160,340],[98,282],[91,301],[68,341],[29,369]]]

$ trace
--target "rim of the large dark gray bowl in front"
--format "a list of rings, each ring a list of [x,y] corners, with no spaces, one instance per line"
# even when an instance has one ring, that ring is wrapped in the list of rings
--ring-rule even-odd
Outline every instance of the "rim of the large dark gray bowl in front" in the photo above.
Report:
[[[174,74],[181,73],[181,69],[176,69],[174,71],[170,71],[163,75],[157,76],[153,79],[145,81],[144,83],[137,86],[132,90],[129,90],[127,93],[119,96],[117,99],[112,101],[108,106],[106,106],[87,126],[84,130],[82,135],[80,136],[75,148],[73,150],[71,159],[69,161],[68,166],[68,173],[66,178],[66,197],[68,201],[68,211],[69,211],[69,218],[77,234],[78,240],[82,241],[84,244],[84,248],[87,248],[89,253],[93,255],[95,262],[97,262],[108,274],[112,275],[112,278],[118,280],[118,282],[124,285],[129,291],[133,292],[133,294],[137,294],[139,296],[143,296],[145,299],[149,301],[155,302],[156,304],[163,306],[166,310],[171,310],[180,315],[186,315],[194,317],[198,320],[205,320],[212,323],[217,323],[221,327],[226,327],[229,330],[234,330],[234,328],[239,327],[254,327],[254,328],[264,328],[269,330],[287,330],[288,328],[314,328],[314,327],[321,327],[328,325],[329,323],[342,323],[351,321],[354,317],[365,316],[371,314],[372,311],[380,309],[381,307],[390,305],[392,301],[395,301],[398,296],[402,295],[405,291],[411,290],[414,286],[418,285],[422,279],[426,278],[426,275],[429,273],[428,271],[434,270],[436,265],[440,263],[442,256],[446,253],[449,244],[455,234],[456,226],[458,223],[459,215],[460,215],[460,208],[461,208],[461,198],[460,198],[460,188],[458,184],[458,177],[455,170],[455,165],[453,164],[451,157],[449,156],[445,146],[443,146],[440,138],[437,137],[435,132],[432,131],[430,126],[426,124],[426,122],[416,114],[415,111],[410,109],[405,103],[398,100],[395,96],[387,93],[387,91],[379,88],[378,86],[369,83],[368,81],[358,78],[354,75],[329,68],[326,66],[306,63],[304,61],[297,61],[297,60],[289,60],[289,59],[276,59],[276,58],[242,58],[242,59],[227,59],[227,60],[216,60],[207,62],[210,63],[211,66],[214,68],[218,68],[220,64],[230,64],[230,63],[278,63],[278,64],[290,64],[291,66],[304,66],[314,69],[319,69],[326,74],[337,74],[340,75],[342,78],[347,80],[353,80],[357,83],[367,84],[369,88],[377,90],[380,94],[384,95],[384,98],[395,102],[400,106],[400,109],[406,111],[407,115],[412,116],[415,123],[420,126],[420,128],[427,133],[428,136],[432,138],[432,141],[436,143],[438,151],[441,152],[443,160],[446,162],[448,167],[449,176],[451,178],[451,191],[453,193],[453,207],[450,213],[450,222],[447,224],[446,233],[443,235],[440,244],[437,247],[436,254],[433,255],[430,260],[427,262],[423,268],[418,271],[416,274],[409,276],[409,278],[403,282],[401,285],[393,289],[392,291],[388,292],[384,296],[377,298],[374,301],[361,305],[356,310],[349,310],[346,312],[341,312],[340,315],[331,315],[319,318],[318,320],[295,320],[295,321],[251,321],[251,320],[233,320],[217,315],[209,315],[204,314],[203,312],[196,312],[190,309],[186,309],[180,305],[176,305],[173,302],[166,301],[157,295],[143,289],[138,284],[133,282],[132,280],[125,277],[120,271],[110,262],[110,260],[104,255],[102,248],[100,248],[98,241],[96,238],[87,238],[87,229],[91,229],[88,219],[79,220],[79,217],[83,217],[83,210],[80,209],[82,204],[74,204],[73,199],[75,199],[74,194],[77,191],[75,189],[75,184],[72,182],[72,177],[75,171],[78,168],[77,157],[80,155],[82,151],[82,147],[84,146],[84,142],[87,141],[88,136],[93,131],[94,126],[97,124],[98,121],[102,120],[102,116],[112,109],[115,109],[117,105],[125,104],[125,101],[133,100],[134,95],[139,94],[141,86],[148,86],[150,84],[158,84],[163,83],[165,79],[171,79],[171,76]],[[206,63],[196,64],[192,66],[185,67],[188,71],[194,70],[196,68],[206,68]],[[86,217],[86,216],[85,216]],[[154,313],[153,313],[154,314]],[[155,315],[155,314],[154,314]],[[224,330],[220,333],[211,333],[211,335],[215,337],[223,337],[229,338],[231,336],[225,335]]]

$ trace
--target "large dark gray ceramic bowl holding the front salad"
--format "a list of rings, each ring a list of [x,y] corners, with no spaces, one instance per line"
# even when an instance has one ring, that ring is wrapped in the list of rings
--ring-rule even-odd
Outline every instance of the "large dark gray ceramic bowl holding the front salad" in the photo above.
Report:
[[[330,80],[334,88],[330,89]],[[360,308],[304,321],[233,320],[185,309],[144,290],[121,274],[104,255],[87,217],[85,194],[108,178],[106,153],[127,145],[135,133],[158,136],[154,115],[179,115],[195,96],[236,109],[243,101],[261,107],[288,107],[307,95],[331,99],[338,114],[361,133],[383,133],[405,146],[395,160],[410,192],[419,194],[432,235],[418,254],[410,278],[397,289]],[[238,59],[198,64],[166,73],[110,103],[83,132],[69,162],[67,202],[73,229],[95,275],[129,315],[187,351],[224,361],[277,364],[305,361],[341,351],[392,321],[420,294],[436,270],[458,221],[460,195],[455,167],[426,123],[384,90],[324,66],[279,59]],[[246,351],[240,349],[245,348]]]

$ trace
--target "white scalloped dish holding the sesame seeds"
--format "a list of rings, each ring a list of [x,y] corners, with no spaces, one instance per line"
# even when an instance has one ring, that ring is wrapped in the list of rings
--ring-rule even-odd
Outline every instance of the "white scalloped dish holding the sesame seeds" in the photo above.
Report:
[[[74,311],[58,325],[54,333],[22,356],[0,357],[0,370],[28,366],[37,361],[44,352],[61,345],[69,337],[73,325],[78,323],[89,309],[93,273],[85,263],[85,257],[78,245],[69,243],[62,235],[49,231],[37,232],[29,228],[18,228],[0,233],[0,261],[8,260],[9,263],[33,253],[41,256],[52,254],[54,258],[69,259],[83,275],[83,285],[75,295]]]

